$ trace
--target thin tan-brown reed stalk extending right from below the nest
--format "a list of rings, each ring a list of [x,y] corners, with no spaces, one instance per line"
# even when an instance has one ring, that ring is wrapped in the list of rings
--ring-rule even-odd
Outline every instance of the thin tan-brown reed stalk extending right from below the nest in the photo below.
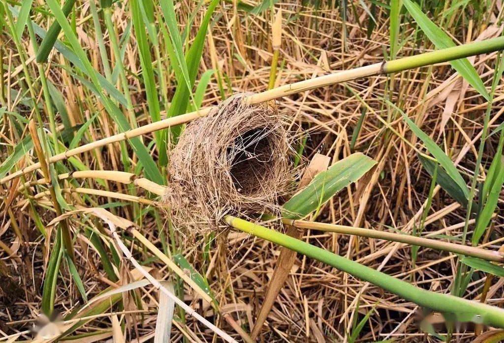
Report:
[[[459,253],[465,256],[472,256],[486,261],[504,263],[504,254],[502,254],[501,252],[476,248],[474,246],[443,242],[435,239],[411,236],[408,234],[377,231],[346,225],[317,223],[306,220],[291,220],[291,219],[284,219],[283,222],[285,224],[292,225],[298,228],[314,229],[326,232],[336,232],[361,237],[384,239],[393,242],[400,242],[410,245],[418,245],[437,250]]]

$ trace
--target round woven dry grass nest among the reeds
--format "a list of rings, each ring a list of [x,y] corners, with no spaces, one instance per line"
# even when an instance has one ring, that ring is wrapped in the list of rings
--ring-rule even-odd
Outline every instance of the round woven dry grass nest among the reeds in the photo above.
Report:
[[[276,213],[291,185],[291,136],[271,104],[235,96],[188,124],[169,152],[163,202],[178,229],[227,227],[227,214]]]

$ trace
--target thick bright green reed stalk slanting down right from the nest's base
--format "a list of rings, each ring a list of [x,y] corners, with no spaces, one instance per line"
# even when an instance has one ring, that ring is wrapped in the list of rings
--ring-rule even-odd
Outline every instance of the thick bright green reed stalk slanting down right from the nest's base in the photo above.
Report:
[[[388,292],[412,301],[422,307],[442,313],[450,313],[455,316],[457,321],[474,321],[491,326],[504,327],[504,310],[496,306],[490,306],[448,294],[427,291],[413,286],[408,282],[348,260],[318,246],[308,244],[264,226],[232,216],[226,216],[225,220],[228,225],[235,229],[288,247],[289,249],[302,253],[308,258],[337,268],[340,271],[381,287]]]

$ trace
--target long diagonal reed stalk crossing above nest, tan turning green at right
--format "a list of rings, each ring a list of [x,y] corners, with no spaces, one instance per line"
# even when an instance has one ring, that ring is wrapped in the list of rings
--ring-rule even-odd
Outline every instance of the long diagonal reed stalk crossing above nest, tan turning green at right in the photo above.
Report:
[[[260,104],[281,97],[286,97],[292,94],[301,93],[304,91],[309,91],[320,87],[325,87],[327,85],[350,81],[356,78],[374,76],[380,74],[389,74],[403,70],[418,68],[421,66],[448,62],[455,59],[493,52],[502,49],[504,49],[504,37],[498,37],[484,41],[463,44],[452,48],[426,52],[423,54],[404,57],[388,62],[374,63],[355,69],[338,71],[329,75],[319,76],[299,82],[286,84],[281,87],[274,88],[272,90],[248,96],[246,97],[246,99],[249,101],[250,104]],[[196,118],[206,116],[212,108],[213,107],[207,107],[199,111],[186,113],[176,117],[166,118],[151,124],[147,124],[145,126],[141,126],[136,129],[121,132],[116,135],[106,137],[89,144],[82,145],[78,148],[56,154],[54,156],[49,157],[47,161],[48,163],[54,163],[60,160],[64,160],[70,156],[74,156],[82,152],[99,148],[107,144],[120,142],[123,140],[127,140],[129,138],[144,135],[146,133],[151,133],[157,130],[184,124]],[[22,168],[17,172],[4,177],[3,179],[0,179],[0,184],[4,184],[9,180],[18,178],[26,173],[33,172],[33,170],[40,168],[40,166],[41,166],[40,162],[37,162],[30,166]]]

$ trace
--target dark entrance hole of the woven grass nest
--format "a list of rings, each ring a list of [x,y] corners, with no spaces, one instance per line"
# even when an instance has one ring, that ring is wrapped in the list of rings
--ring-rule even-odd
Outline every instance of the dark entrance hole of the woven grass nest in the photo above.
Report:
[[[243,195],[254,195],[271,173],[271,158],[275,148],[273,136],[267,128],[248,130],[234,139],[227,148],[231,159],[230,175],[236,190]]]

